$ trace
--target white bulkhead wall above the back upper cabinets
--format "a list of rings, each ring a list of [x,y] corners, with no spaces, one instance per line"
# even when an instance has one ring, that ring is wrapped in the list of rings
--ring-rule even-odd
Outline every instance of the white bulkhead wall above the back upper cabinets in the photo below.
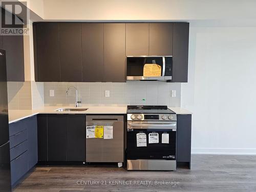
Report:
[[[44,0],[44,19],[252,19],[255,7],[251,0]]]

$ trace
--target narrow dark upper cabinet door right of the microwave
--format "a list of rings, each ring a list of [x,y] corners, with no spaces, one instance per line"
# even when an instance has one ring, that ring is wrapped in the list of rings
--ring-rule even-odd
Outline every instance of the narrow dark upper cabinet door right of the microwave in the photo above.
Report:
[[[173,82],[187,82],[189,23],[175,23],[173,31]]]

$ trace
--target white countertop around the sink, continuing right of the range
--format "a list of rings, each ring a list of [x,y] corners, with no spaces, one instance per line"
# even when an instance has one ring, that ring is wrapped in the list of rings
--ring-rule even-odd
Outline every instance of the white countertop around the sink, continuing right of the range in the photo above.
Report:
[[[126,114],[126,106],[89,106],[87,111],[80,112],[56,112],[60,108],[72,108],[70,106],[45,106],[39,110],[9,110],[9,123],[13,123],[37,114]],[[179,108],[168,107],[176,114],[192,114],[191,112]]]

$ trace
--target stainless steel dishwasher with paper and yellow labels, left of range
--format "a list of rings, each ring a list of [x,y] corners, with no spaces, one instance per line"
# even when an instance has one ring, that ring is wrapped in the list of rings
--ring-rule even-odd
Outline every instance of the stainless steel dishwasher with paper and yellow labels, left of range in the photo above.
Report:
[[[113,126],[113,139],[86,139],[86,162],[117,162],[120,166],[124,156],[124,117],[121,115],[87,115],[86,126]]]

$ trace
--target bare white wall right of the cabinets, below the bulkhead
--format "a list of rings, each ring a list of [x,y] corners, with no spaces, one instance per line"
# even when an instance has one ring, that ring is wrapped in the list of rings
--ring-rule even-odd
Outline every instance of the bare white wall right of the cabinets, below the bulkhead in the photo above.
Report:
[[[188,83],[193,153],[256,154],[256,27],[191,27]]]

